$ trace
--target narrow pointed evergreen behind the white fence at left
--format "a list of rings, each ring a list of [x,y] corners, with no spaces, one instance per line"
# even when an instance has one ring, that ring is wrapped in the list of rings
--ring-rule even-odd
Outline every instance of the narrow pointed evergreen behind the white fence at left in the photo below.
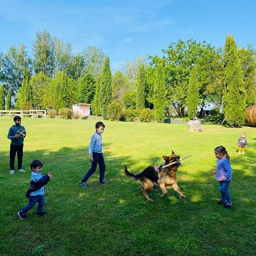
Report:
[[[29,110],[33,107],[33,88],[30,83],[30,71],[26,68],[22,81],[22,97],[20,109]]]

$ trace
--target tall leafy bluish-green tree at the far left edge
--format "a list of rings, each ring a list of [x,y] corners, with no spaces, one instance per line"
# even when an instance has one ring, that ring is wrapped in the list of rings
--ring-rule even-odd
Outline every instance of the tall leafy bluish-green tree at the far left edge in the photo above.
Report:
[[[25,68],[30,68],[30,58],[26,47],[20,44],[19,48],[11,46],[9,51],[1,57],[1,81],[5,89],[10,89],[13,94],[18,92],[22,85]]]

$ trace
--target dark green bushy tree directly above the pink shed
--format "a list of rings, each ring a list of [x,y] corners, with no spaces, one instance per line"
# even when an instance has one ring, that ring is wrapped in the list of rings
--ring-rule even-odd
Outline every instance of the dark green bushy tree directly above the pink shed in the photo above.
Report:
[[[86,74],[78,81],[78,101],[90,104],[95,94],[96,82],[92,75]]]

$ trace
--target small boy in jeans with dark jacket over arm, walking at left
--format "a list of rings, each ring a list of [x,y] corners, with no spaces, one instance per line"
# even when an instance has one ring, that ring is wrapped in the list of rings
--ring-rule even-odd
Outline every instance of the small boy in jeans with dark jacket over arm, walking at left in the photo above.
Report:
[[[38,203],[38,210],[36,211],[36,216],[40,217],[46,215],[47,212],[43,210],[44,207],[44,185],[46,185],[49,179],[52,177],[52,172],[48,172],[47,175],[42,175],[43,163],[38,160],[32,160],[30,168],[32,170],[30,188],[26,192],[26,197],[28,197],[28,204],[25,205],[19,212],[18,216],[24,220],[27,218],[28,210],[31,210],[36,203]]]

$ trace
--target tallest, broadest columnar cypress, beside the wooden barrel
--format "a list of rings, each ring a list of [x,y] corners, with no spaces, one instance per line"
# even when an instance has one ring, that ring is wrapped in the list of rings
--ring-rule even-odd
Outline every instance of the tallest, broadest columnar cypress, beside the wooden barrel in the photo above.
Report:
[[[237,45],[233,36],[226,37],[224,52],[224,94],[222,97],[226,122],[241,127],[245,116],[245,86]]]

